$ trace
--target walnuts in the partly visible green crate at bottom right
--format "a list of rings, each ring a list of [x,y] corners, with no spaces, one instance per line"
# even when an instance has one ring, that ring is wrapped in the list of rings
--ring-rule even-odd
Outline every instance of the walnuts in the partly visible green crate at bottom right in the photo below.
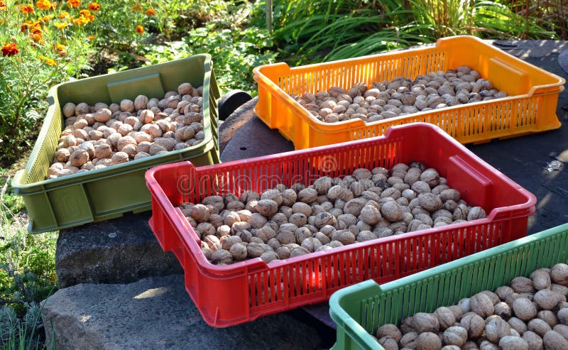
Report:
[[[568,349],[568,265],[540,268],[530,278],[384,324],[376,332],[386,350]]]

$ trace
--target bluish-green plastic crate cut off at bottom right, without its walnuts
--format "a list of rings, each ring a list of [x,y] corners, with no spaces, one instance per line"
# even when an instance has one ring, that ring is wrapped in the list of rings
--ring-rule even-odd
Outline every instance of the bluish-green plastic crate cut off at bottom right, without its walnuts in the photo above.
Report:
[[[528,277],[537,268],[567,262],[568,224],[563,224],[382,286],[373,280],[351,285],[329,299],[329,314],[337,324],[332,349],[383,349],[370,335],[382,324],[455,305],[517,276]]]

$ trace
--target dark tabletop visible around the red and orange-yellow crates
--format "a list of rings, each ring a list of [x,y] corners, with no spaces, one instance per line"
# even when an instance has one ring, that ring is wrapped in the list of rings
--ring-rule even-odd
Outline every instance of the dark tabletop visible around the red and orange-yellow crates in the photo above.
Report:
[[[552,40],[498,40],[493,45],[511,55],[568,80],[568,42]],[[563,68],[566,70],[563,70]],[[256,99],[237,109],[222,126],[222,161],[293,151],[293,144],[271,130],[253,113]],[[568,222],[568,92],[560,94],[557,117],[562,126],[528,136],[466,145],[494,168],[537,197],[528,234]],[[225,131],[225,133],[223,133]],[[266,140],[270,140],[268,143]],[[302,307],[334,327],[327,302]]]

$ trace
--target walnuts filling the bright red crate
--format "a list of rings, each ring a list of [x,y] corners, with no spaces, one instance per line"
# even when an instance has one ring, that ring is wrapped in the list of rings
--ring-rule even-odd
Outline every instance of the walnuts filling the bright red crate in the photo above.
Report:
[[[213,195],[180,210],[201,237],[209,261],[266,263],[394,234],[486,217],[449,188],[437,170],[398,163],[319,177],[310,186],[277,185],[237,197]]]

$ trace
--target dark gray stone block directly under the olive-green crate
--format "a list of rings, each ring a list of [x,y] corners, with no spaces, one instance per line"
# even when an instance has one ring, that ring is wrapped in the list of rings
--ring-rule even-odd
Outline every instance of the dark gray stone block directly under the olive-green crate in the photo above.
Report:
[[[55,251],[60,288],[181,273],[173,253],[164,253],[155,239],[150,217],[145,212],[61,230]]]

